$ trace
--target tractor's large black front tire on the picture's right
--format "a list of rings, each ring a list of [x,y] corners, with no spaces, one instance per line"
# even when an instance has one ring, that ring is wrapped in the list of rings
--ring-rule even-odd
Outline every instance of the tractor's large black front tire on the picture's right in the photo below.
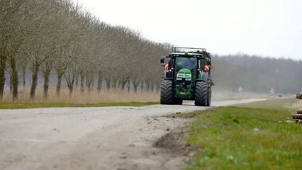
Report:
[[[208,84],[203,81],[196,82],[195,106],[207,106]]]

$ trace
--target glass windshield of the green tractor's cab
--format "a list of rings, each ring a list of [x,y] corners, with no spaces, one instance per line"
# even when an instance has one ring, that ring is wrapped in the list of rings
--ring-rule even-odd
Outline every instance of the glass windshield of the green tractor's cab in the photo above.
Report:
[[[196,57],[176,57],[176,74],[181,69],[190,69],[192,73],[192,79],[196,78],[196,66],[197,66],[197,59]]]

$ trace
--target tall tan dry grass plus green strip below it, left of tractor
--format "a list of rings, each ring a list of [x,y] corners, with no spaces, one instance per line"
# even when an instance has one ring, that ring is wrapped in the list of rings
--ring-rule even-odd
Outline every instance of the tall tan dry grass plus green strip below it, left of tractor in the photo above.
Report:
[[[13,108],[45,108],[45,107],[102,107],[102,106],[145,106],[159,104],[158,91],[123,91],[121,89],[102,89],[97,91],[85,89],[81,92],[79,87],[74,88],[70,95],[66,87],[62,87],[60,96],[57,96],[56,87],[50,86],[48,97],[43,97],[43,87],[38,86],[35,100],[29,98],[29,87],[24,87],[18,93],[18,100],[13,102],[12,94],[6,91],[0,102],[0,109]]]

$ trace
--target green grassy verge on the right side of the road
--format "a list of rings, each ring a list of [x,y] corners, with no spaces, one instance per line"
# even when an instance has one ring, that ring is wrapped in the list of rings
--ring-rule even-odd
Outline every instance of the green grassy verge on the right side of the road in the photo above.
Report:
[[[289,103],[196,112],[187,142],[201,149],[186,169],[301,169],[302,126],[285,122]]]

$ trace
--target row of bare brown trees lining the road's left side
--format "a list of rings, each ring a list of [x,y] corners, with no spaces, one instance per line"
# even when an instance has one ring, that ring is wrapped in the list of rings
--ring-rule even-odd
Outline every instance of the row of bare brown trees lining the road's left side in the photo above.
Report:
[[[72,94],[75,81],[97,89],[125,89],[139,84],[156,89],[160,84],[158,58],[169,53],[170,45],[142,38],[137,31],[110,26],[69,0],[0,0],[0,98],[6,72],[13,100],[18,99],[19,77],[26,86],[32,75],[30,98],[35,98],[38,73],[44,77],[47,98],[50,75],[57,75],[57,95],[62,79]]]

